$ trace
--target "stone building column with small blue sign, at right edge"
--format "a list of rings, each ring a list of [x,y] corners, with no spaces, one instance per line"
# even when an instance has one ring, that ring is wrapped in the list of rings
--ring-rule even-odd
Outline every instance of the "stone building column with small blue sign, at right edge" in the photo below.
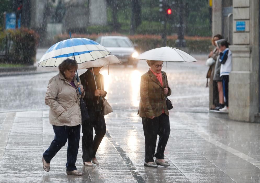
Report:
[[[255,122],[259,109],[259,0],[233,0],[229,118]]]

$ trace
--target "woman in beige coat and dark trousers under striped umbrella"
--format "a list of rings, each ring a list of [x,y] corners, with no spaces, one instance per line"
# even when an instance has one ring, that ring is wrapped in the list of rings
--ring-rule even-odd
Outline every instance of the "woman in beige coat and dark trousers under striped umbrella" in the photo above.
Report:
[[[59,65],[59,74],[49,81],[45,95],[45,104],[50,106],[50,124],[55,133],[54,140],[49,148],[43,153],[43,169],[50,171],[50,161],[56,153],[65,146],[68,140],[67,164],[68,175],[82,175],[77,171],[77,161],[81,113],[79,107],[80,97],[84,97],[82,85],[76,80],[78,64],[75,60],[66,59]],[[80,82],[80,81],[79,81]],[[81,82],[80,82],[81,83]],[[82,94],[79,94],[80,88]]]

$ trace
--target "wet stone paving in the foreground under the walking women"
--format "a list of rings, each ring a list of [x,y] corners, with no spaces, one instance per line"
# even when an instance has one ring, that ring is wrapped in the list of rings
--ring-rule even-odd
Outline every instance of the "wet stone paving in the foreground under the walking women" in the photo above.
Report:
[[[259,182],[259,124],[228,121],[208,113],[170,111],[165,150],[170,167],[143,166],[144,136],[136,108],[115,108],[97,152],[100,165],[76,166],[83,176],[66,175],[66,145],[42,168],[54,138],[48,111],[0,113],[0,182]]]

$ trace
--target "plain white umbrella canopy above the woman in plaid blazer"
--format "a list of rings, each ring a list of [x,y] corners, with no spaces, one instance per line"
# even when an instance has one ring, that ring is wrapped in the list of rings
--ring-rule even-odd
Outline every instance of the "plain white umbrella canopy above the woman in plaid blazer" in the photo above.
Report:
[[[177,48],[172,47],[161,47],[148,50],[135,59],[141,60],[154,60],[154,61],[168,61],[168,62],[196,62],[193,56],[190,54],[183,52]]]

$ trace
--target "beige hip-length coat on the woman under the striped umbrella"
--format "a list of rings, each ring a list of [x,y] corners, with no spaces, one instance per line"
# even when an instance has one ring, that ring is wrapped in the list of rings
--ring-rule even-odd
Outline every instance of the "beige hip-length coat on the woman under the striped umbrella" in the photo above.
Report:
[[[76,76],[74,76],[73,81],[78,86]],[[83,92],[82,97],[84,95]],[[76,89],[61,73],[52,77],[45,95],[45,104],[50,106],[50,124],[56,126],[76,126],[81,124],[79,99],[79,93],[76,93]]]

